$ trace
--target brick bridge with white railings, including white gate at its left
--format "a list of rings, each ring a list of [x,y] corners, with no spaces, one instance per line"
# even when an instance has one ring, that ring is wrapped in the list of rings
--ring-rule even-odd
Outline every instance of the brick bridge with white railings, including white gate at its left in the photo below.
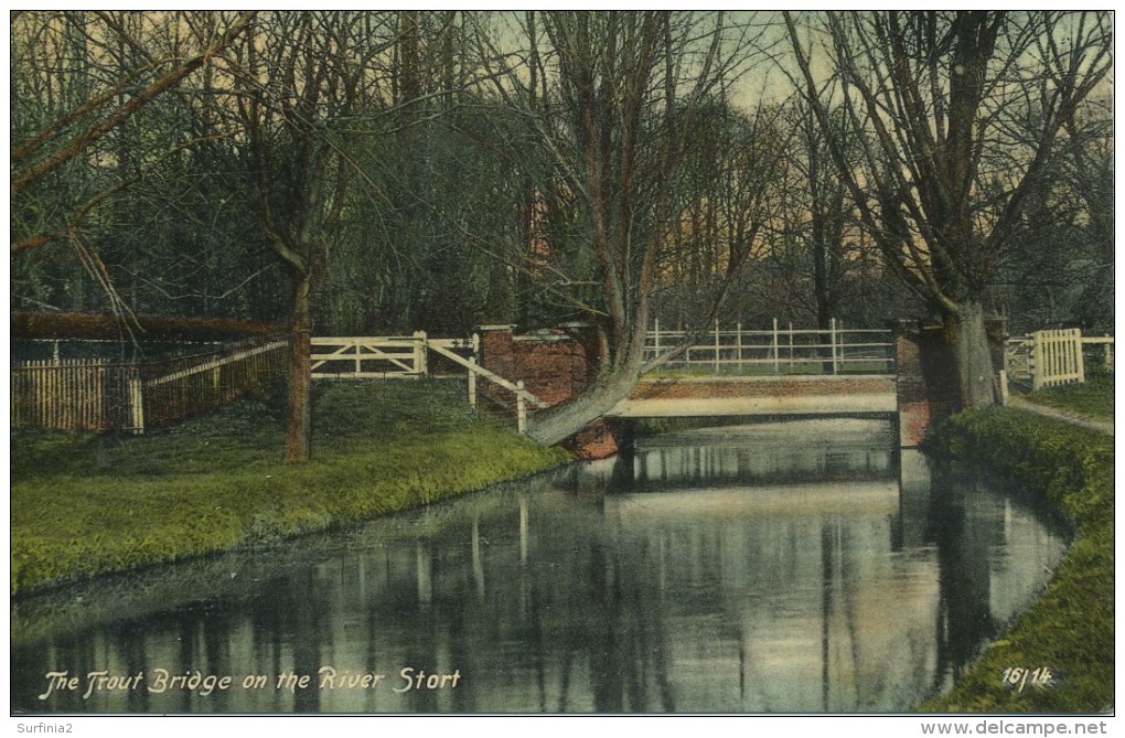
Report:
[[[587,326],[516,335],[513,326],[480,326],[468,340],[411,336],[317,338],[315,378],[418,378],[433,371],[468,372],[468,399],[480,395],[508,408],[521,432],[529,412],[582,392],[590,380],[594,341]],[[660,363],[606,418],[882,415],[900,412],[897,343],[891,331],[770,330],[716,325],[704,333],[648,333],[646,359]],[[478,392],[478,384],[484,388]]]

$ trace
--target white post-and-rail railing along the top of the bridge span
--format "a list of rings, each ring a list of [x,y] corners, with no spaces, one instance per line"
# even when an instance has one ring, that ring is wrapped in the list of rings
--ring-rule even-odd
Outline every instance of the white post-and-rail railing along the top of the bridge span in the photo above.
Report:
[[[646,358],[681,349],[691,334],[662,328],[659,321],[646,340]],[[750,331],[741,323],[713,330],[668,360],[662,370],[714,375],[840,375],[893,374],[894,336],[891,331],[845,328],[832,318],[828,328],[783,327]]]

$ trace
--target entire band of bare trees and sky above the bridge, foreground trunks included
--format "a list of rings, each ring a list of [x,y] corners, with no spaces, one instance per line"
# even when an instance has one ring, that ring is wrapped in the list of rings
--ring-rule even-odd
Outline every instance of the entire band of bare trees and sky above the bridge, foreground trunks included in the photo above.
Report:
[[[284,321],[298,346],[586,321],[597,380],[539,416],[544,442],[636,379],[655,318],[934,317],[982,404],[986,314],[1113,327],[1110,32],[1092,11],[19,11],[11,306]],[[307,351],[292,367],[296,418]]]

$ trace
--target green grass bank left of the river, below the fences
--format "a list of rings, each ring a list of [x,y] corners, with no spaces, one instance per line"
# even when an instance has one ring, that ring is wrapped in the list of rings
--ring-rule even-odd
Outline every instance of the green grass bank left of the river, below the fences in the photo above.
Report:
[[[281,464],[284,411],[268,397],[143,436],[14,431],[11,592],[354,523],[569,458],[462,392],[318,386],[303,466]]]

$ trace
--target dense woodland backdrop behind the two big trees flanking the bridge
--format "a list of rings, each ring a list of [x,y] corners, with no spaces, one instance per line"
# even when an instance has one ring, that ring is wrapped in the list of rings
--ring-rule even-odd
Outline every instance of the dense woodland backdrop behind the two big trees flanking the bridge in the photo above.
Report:
[[[918,29],[960,21],[907,15]],[[629,238],[657,246],[651,313],[666,325],[705,318],[720,291],[720,315],[745,324],[835,316],[881,326],[928,314],[843,186],[828,136],[799,93],[778,16],[657,14],[650,28],[627,20],[18,12],[11,308],[285,321],[294,280],[307,273],[316,333],[464,334],[482,323],[588,320],[606,309],[590,164],[604,168],[606,188],[632,188],[626,200],[603,197],[614,217],[632,218]],[[798,14],[795,22],[812,39],[814,63],[839,61],[824,16]],[[1010,141],[983,142],[982,151],[1033,156],[1015,145],[1046,115],[1030,84],[1046,89],[1069,69],[1060,57],[1059,74],[1048,74],[1047,39],[1097,47],[1108,36],[1090,29],[1105,19],[1009,14],[1004,22],[1009,44],[1035,42],[1015,62],[1000,58],[1008,66],[989,92],[1002,88],[1009,106],[1025,105],[1005,114]],[[629,50],[649,32],[652,54],[641,58]],[[583,34],[598,39],[588,56]],[[940,44],[930,53],[946,53]],[[926,50],[919,42],[907,53]],[[640,64],[649,65],[648,87],[626,99]],[[1038,71],[1020,75],[1017,66]],[[568,83],[583,74],[588,89]],[[166,87],[115,118],[160,82]],[[583,100],[591,90],[595,98]],[[1113,328],[1112,96],[1108,83],[1088,92],[983,274],[986,307],[1014,331]],[[597,145],[632,160],[590,161],[575,115],[598,110],[615,118],[593,132]],[[854,114],[835,98],[840,126]],[[630,115],[631,127],[619,125]],[[844,141],[861,179],[870,166],[862,152],[876,135],[870,123],[862,128]],[[636,181],[616,177],[622,168]],[[982,169],[974,182],[974,217],[1005,196],[997,172]]]

